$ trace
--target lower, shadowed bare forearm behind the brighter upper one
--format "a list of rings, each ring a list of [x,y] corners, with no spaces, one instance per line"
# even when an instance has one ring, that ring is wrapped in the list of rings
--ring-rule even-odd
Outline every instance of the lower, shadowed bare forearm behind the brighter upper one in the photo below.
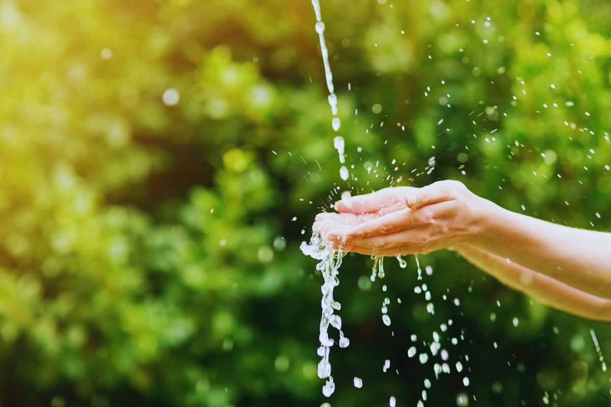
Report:
[[[501,283],[530,295],[536,300],[580,317],[611,320],[611,301],[588,294],[529,268],[469,245],[455,251]]]

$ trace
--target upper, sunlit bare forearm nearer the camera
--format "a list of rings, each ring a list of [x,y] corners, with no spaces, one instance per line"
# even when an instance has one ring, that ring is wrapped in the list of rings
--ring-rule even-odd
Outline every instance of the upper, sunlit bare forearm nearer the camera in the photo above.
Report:
[[[486,201],[470,245],[611,298],[611,234],[555,225]]]

